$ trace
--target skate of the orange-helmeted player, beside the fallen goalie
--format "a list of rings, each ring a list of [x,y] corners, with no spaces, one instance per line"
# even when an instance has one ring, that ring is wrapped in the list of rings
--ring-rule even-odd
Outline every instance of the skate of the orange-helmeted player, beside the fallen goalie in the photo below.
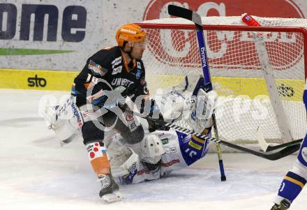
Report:
[[[119,193],[119,186],[114,181],[112,174],[103,174],[100,177],[101,190],[99,196],[106,203],[118,202],[123,199],[123,195]]]

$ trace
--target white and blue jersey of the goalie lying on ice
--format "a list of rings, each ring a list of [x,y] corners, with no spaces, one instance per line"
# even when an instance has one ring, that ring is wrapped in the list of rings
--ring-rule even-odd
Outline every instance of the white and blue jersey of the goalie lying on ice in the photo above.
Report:
[[[156,130],[151,134],[160,138],[165,149],[159,167],[149,170],[146,164],[141,162],[134,172],[130,172],[123,177],[117,177],[119,183],[140,183],[165,177],[173,170],[188,167],[200,160],[209,149],[208,141],[200,140],[195,135],[186,135],[177,130]]]

